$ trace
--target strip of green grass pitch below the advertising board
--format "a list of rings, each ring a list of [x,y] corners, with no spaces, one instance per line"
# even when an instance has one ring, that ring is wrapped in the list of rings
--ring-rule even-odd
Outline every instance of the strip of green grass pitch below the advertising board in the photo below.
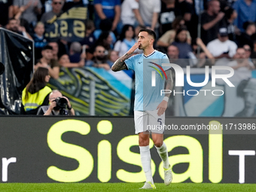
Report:
[[[90,191],[142,191],[142,183],[5,183],[0,184],[1,192],[90,192]],[[157,189],[154,191],[181,191],[181,192],[229,192],[229,191],[256,191],[256,184],[194,184],[181,183],[170,184],[166,187],[164,184],[156,184]]]

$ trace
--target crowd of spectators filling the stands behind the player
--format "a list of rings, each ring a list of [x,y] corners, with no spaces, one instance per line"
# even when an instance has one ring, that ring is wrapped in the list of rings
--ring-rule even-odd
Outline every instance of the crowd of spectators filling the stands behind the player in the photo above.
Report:
[[[82,41],[59,38],[50,42],[44,36],[48,20],[84,5],[88,16]],[[182,67],[230,65],[234,69],[254,69],[255,21],[254,0],[0,0],[0,26],[33,39],[35,69],[46,67],[55,79],[61,66],[109,70],[117,57],[133,46],[143,28],[157,33],[155,47],[169,59],[194,60],[180,62]],[[224,59],[245,62],[229,63]]]

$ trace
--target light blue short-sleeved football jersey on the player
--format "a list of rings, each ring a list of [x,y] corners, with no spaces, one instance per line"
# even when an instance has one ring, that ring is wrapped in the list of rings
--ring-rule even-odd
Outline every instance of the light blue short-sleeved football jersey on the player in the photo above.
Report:
[[[128,69],[133,69],[135,72],[136,94],[134,111],[151,111],[156,110],[157,105],[162,102],[164,94],[161,96],[160,91],[164,90],[165,74],[160,67],[163,63],[169,63],[169,58],[166,54],[154,50],[148,56],[143,53],[131,56],[125,60]],[[159,66],[157,66],[159,65]],[[164,71],[169,69],[169,66],[162,67]],[[152,87],[152,71],[156,74],[156,86]]]

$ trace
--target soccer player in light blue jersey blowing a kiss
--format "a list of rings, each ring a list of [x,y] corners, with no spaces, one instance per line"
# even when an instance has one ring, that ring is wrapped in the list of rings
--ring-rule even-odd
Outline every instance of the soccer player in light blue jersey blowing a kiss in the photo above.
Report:
[[[148,125],[163,125],[165,123],[165,111],[170,93],[166,93],[165,96],[160,95],[160,91],[163,90],[165,83],[162,77],[165,75],[155,75],[155,84],[157,86],[152,87],[151,74],[152,70],[157,69],[157,67],[156,72],[160,72],[159,69],[163,69],[167,77],[165,89],[172,90],[172,73],[170,67],[161,67],[163,63],[169,62],[169,59],[166,54],[154,50],[155,32],[151,29],[141,29],[138,38],[138,42],[126,54],[117,59],[111,69],[114,72],[123,69],[133,69],[136,73],[134,121],[136,134],[139,134],[142,168],[146,176],[146,182],[142,189],[155,189],[151,172],[149,133],[151,133],[154,146],[163,160],[164,183],[166,185],[172,182],[172,170],[169,164],[166,144],[163,142],[163,129],[150,129]],[[143,53],[132,56],[137,48],[143,50]]]

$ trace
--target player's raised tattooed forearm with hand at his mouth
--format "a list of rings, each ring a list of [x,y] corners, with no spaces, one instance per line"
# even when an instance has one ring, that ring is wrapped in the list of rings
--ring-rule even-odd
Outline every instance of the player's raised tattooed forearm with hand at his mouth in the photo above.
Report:
[[[128,59],[130,56],[132,56],[133,52],[139,47],[140,43],[136,42],[133,47],[130,48],[130,50],[125,53],[125,55],[121,56],[119,59],[117,59],[114,62],[114,65],[111,67],[113,72],[118,72],[123,69],[127,69],[126,64],[124,61]]]

